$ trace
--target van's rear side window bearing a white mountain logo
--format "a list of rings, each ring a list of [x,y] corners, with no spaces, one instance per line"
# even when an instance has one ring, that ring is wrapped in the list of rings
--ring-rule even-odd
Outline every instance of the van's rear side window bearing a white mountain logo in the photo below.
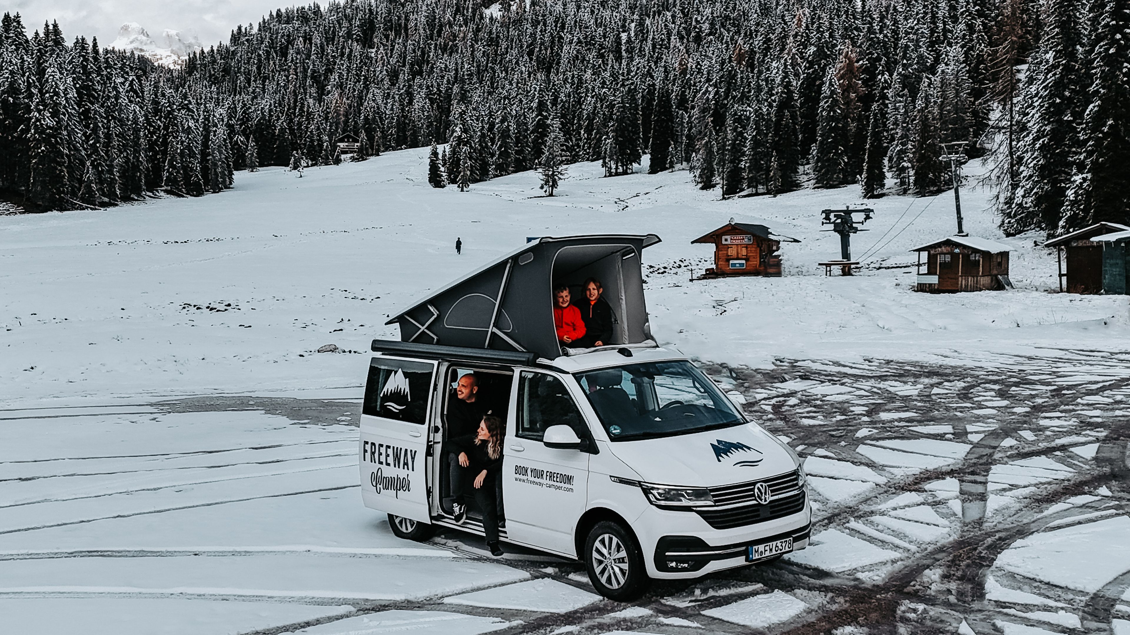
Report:
[[[368,366],[362,415],[423,424],[434,371],[432,364],[374,357]]]

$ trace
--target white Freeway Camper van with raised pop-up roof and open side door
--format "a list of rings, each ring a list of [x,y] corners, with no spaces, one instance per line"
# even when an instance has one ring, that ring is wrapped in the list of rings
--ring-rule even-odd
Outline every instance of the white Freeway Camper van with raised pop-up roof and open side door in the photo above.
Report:
[[[542,238],[392,320],[407,336],[373,342],[358,455],[365,505],[388,513],[397,536],[424,540],[436,527],[484,533],[473,510],[457,523],[444,504],[453,388],[473,373],[505,420],[501,540],[583,560],[601,594],[631,600],[650,579],[697,577],[808,545],[811,508],[796,453],[686,356],[651,339],[642,285],[635,295],[626,287],[640,280],[640,251],[652,238]],[[563,264],[560,252],[577,243],[586,247],[573,262],[581,266]],[[507,314],[529,311],[506,302],[516,263],[547,255],[555,258],[534,277],[545,278],[538,302],[549,306],[551,280],[602,276],[616,294],[611,343],[577,350],[553,339],[547,348],[530,332],[544,324]],[[479,294],[490,286],[479,278],[496,266],[493,297]],[[453,310],[476,294],[485,297],[480,316]]]

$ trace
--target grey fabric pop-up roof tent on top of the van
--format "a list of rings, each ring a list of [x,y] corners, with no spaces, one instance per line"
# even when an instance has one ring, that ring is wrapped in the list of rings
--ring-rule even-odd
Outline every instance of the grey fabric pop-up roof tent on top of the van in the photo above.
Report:
[[[432,292],[386,324],[401,341],[519,350],[560,356],[554,328],[553,287],[594,277],[616,315],[611,343],[651,339],[641,256],[654,234],[542,237]]]

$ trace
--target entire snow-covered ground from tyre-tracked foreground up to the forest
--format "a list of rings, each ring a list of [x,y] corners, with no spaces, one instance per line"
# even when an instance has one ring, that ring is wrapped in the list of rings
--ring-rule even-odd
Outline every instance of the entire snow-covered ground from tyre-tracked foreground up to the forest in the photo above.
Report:
[[[1054,253],[1002,238],[976,189],[966,228],[1014,247],[1014,290],[911,290],[906,250],[953,233],[950,193],[867,201],[854,252],[886,246],[826,278],[838,236],[819,211],[863,203],[853,188],[718,201],[686,172],[600,174],[572,166],[555,198],[533,174],[460,193],[406,150],[241,173],[200,199],[0,216],[0,630],[863,624],[846,635],[868,628],[855,599],[905,589],[922,603],[889,614],[911,630],[1130,628],[1130,496],[1111,477],[1125,297],[1049,293]],[[690,280],[711,256],[690,240],[730,217],[801,240],[784,277]],[[388,315],[527,236],[597,232],[663,238],[644,254],[653,332],[805,456],[807,550],[624,607],[575,564],[492,559],[454,532],[405,542],[362,506],[360,382],[372,338],[395,337]]]

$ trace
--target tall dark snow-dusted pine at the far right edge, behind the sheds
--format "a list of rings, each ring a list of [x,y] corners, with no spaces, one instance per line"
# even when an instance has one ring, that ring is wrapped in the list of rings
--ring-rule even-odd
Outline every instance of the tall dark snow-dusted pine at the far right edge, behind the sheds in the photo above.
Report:
[[[1096,0],[1085,146],[1060,232],[1130,221],[1130,0]]]

